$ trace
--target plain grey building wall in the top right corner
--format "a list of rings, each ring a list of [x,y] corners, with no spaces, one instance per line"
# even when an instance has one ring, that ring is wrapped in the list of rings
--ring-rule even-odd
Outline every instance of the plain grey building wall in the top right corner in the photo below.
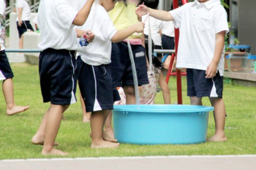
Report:
[[[250,52],[256,55],[256,0],[239,0],[238,40],[250,45]]]

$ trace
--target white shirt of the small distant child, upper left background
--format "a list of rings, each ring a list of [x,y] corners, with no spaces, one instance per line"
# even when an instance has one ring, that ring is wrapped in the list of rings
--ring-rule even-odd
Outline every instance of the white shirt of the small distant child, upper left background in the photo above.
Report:
[[[30,7],[29,7],[29,4],[26,0],[16,0],[16,10],[17,10],[17,18],[16,18],[16,21],[19,20],[19,17],[18,17],[18,11],[19,11],[19,8],[22,8],[22,20],[30,20],[30,17],[31,17],[31,10],[30,10]]]

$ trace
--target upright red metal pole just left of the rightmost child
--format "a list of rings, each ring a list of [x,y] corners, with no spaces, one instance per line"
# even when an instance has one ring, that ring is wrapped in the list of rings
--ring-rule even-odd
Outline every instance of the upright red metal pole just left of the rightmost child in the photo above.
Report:
[[[187,3],[187,0],[182,0],[182,3]],[[178,8],[178,0],[173,0],[173,8]],[[179,29],[175,28],[175,55],[177,59],[177,51],[178,51],[178,43],[179,43]],[[178,104],[182,104],[182,83],[181,83],[181,70],[176,69],[176,77],[177,77],[177,100]]]

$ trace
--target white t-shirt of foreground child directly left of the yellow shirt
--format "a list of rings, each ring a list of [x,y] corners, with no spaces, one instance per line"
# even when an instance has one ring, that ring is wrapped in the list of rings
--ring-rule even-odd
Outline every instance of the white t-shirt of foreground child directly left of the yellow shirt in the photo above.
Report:
[[[77,26],[77,28],[82,30],[90,29],[95,34],[93,41],[87,46],[81,47],[79,45],[78,52],[81,55],[81,59],[90,65],[110,63],[111,39],[117,31],[106,9],[94,3],[86,22],[82,26]]]

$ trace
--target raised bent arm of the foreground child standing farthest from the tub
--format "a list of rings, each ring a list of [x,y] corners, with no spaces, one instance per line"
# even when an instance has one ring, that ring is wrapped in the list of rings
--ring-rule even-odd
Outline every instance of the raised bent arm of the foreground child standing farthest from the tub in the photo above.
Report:
[[[84,22],[86,21],[90,10],[91,10],[91,6],[92,3],[94,2],[94,0],[87,0],[86,3],[83,5],[83,7],[78,11],[76,17],[73,20],[73,24],[74,25],[78,25],[81,26],[84,24]]]

